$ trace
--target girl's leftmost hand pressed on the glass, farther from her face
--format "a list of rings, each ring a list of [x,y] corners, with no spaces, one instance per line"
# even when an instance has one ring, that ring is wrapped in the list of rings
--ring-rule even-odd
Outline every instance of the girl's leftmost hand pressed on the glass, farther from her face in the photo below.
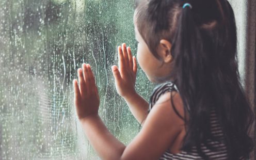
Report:
[[[95,85],[94,75],[89,64],[83,63],[83,70],[79,68],[78,80],[74,79],[74,104],[79,120],[88,116],[98,116],[100,98],[97,86]]]

